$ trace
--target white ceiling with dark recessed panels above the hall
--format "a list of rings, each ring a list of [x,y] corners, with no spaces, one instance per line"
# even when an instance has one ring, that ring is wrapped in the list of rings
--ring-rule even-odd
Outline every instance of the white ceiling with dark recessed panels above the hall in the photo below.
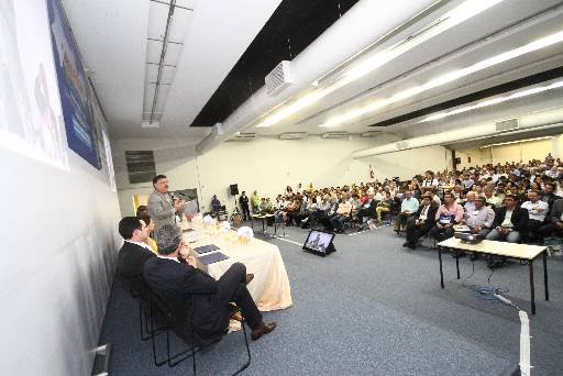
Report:
[[[366,1],[382,4],[380,13],[368,14],[373,19],[373,24],[377,25],[384,22],[387,16],[385,1],[362,0],[352,10]],[[318,2],[320,3],[320,1]],[[382,52],[393,44],[404,41],[460,3],[462,0],[440,1],[439,5],[432,8],[431,11],[413,19],[402,29],[386,35],[379,43],[371,46],[365,54]],[[163,91],[159,93],[157,103],[162,108],[158,128],[151,129],[142,128],[143,111],[146,111],[143,108],[146,109],[146,103],[152,102],[152,97],[146,95],[147,82],[155,78],[155,68],[147,68],[146,63],[159,57],[162,43],[147,41],[147,36],[161,35],[164,37],[165,9],[168,7],[148,0],[91,0],[80,3],[64,1],[90,78],[110,124],[112,137],[186,137],[194,144],[209,137],[210,129],[208,126],[189,126],[190,124],[211,125],[219,121],[234,124],[229,129],[230,134],[227,136],[236,131],[254,132],[258,136],[276,136],[286,132],[320,134],[329,131],[362,133],[377,130],[393,133],[398,139],[406,139],[477,121],[501,120],[508,115],[517,117],[556,107],[558,103],[562,106],[563,89],[554,89],[526,99],[520,98],[437,121],[420,123],[420,120],[428,114],[404,117],[428,107],[440,106],[460,97],[561,67],[563,66],[563,43],[558,43],[397,100],[339,125],[319,126],[334,117],[368,106],[375,100],[388,99],[446,73],[466,68],[492,56],[562,31],[563,9],[556,8],[563,7],[562,3],[562,1],[555,0],[505,0],[412,47],[361,79],[333,90],[322,99],[282,119],[274,125],[256,128],[260,117],[267,115],[274,107],[278,106],[279,109],[283,109],[284,104],[282,103],[285,102],[287,106],[305,93],[316,90],[310,85],[312,80],[297,82],[294,84],[294,88],[285,89],[277,97],[266,98],[263,102],[267,106],[257,106],[257,99],[262,99],[264,93],[255,87],[263,80],[264,73],[267,73],[272,68],[272,64],[276,64],[275,62],[288,58],[282,56],[287,54],[285,45],[282,48],[274,48],[276,51],[272,52],[273,56],[269,54],[271,51],[265,47],[269,41],[268,37],[272,41],[279,40],[279,33],[276,34],[276,30],[279,31],[282,24],[276,18],[279,14],[291,18],[291,12],[296,12],[295,19],[302,20],[297,16],[299,11],[303,11],[302,7],[300,8],[296,0],[178,0],[177,4],[190,8],[192,11],[176,10],[178,14],[184,12],[185,15],[176,16],[175,14],[174,22],[181,22],[181,25],[173,29],[174,32],[169,40],[181,41],[181,45],[177,45],[175,51],[170,49],[170,55],[167,55],[175,60],[174,64],[170,64],[175,67],[163,73],[163,82],[172,85],[162,86]],[[353,2],[342,1],[342,4],[344,4],[343,10],[345,11],[346,7],[351,7]],[[163,7],[163,9],[155,11],[155,7]],[[325,7],[329,5],[325,3]],[[276,11],[276,9],[278,10]],[[346,27],[352,30],[354,25],[346,23],[347,18],[349,14],[343,13],[342,18],[328,31],[336,26],[340,27],[340,31],[346,30]],[[324,24],[329,26],[330,22],[324,22]],[[299,22],[295,23],[295,26],[298,25]],[[393,27],[389,27],[388,31],[390,29]],[[159,30],[162,30],[162,34],[158,34]],[[353,32],[351,32],[352,35]],[[314,35],[314,33],[311,32],[309,37],[310,35]],[[316,42],[317,44],[323,42],[321,41],[322,36]],[[351,45],[353,42],[350,40]],[[330,47],[336,53],[339,49],[345,49],[346,46]],[[299,49],[303,48],[305,45]],[[299,54],[298,49],[295,49],[294,54],[298,55],[294,56],[291,64],[297,67],[305,60],[301,57],[311,51],[311,48],[305,48]],[[331,56],[327,54],[317,56],[317,58],[319,63],[322,63],[330,60]],[[347,64],[353,64],[353,62]],[[325,70],[319,71],[317,77],[321,77],[325,73]],[[235,101],[230,98],[227,102],[225,92],[235,90],[236,85],[241,85],[241,79],[246,76],[252,82],[253,89],[240,90]],[[533,85],[541,85],[541,82],[533,82]],[[300,85],[299,90],[295,89],[298,84]],[[508,92],[515,91],[514,88],[510,90],[510,86],[505,87]],[[250,96],[251,92],[252,96]],[[501,93],[494,95],[500,96]],[[246,98],[249,96],[250,98]],[[475,99],[473,103],[486,98],[490,97]],[[471,103],[472,101],[466,101],[466,103],[456,104],[450,110]],[[253,108],[253,111],[249,112],[252,117],[243,118],[238,114],[245,107]],[[231,113],[236,108],[239,108],[236,112]],[[222,119],[225,117],[227,119]],[[398,117],[404,118],[390,121]],[[371,126],[377,123],[380,125],[382,122],[386,126]],[[550,132],[561,133],[561,130],[556,129]],[[374,140],[374,142],[377,141]]]

